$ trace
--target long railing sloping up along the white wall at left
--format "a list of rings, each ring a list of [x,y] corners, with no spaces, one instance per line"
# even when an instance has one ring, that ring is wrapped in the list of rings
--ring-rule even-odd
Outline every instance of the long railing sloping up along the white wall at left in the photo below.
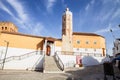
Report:
[[[10,56],[10,57],[7,57],[5,59],[5,62],[9,62],[9,61],[12,61],[12,60],[22,60],[22,59],[28,58],[28,57],[30,57],[32,55],[42,55],[42,54],[43,54],[43,51],[33,51],[33,52],[26,53],[26,54],[23,54],[23,55],[20,55],[20,56]],[[3,60],[4,59],[0,60],[0,64],[3,63]]]

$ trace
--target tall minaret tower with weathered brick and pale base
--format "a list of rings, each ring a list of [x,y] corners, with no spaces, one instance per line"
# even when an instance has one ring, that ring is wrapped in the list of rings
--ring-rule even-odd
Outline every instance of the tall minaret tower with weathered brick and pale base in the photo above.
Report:
[[[62,51],[72,52],[72,45],[72,12],[66,8],[62,16]]]

